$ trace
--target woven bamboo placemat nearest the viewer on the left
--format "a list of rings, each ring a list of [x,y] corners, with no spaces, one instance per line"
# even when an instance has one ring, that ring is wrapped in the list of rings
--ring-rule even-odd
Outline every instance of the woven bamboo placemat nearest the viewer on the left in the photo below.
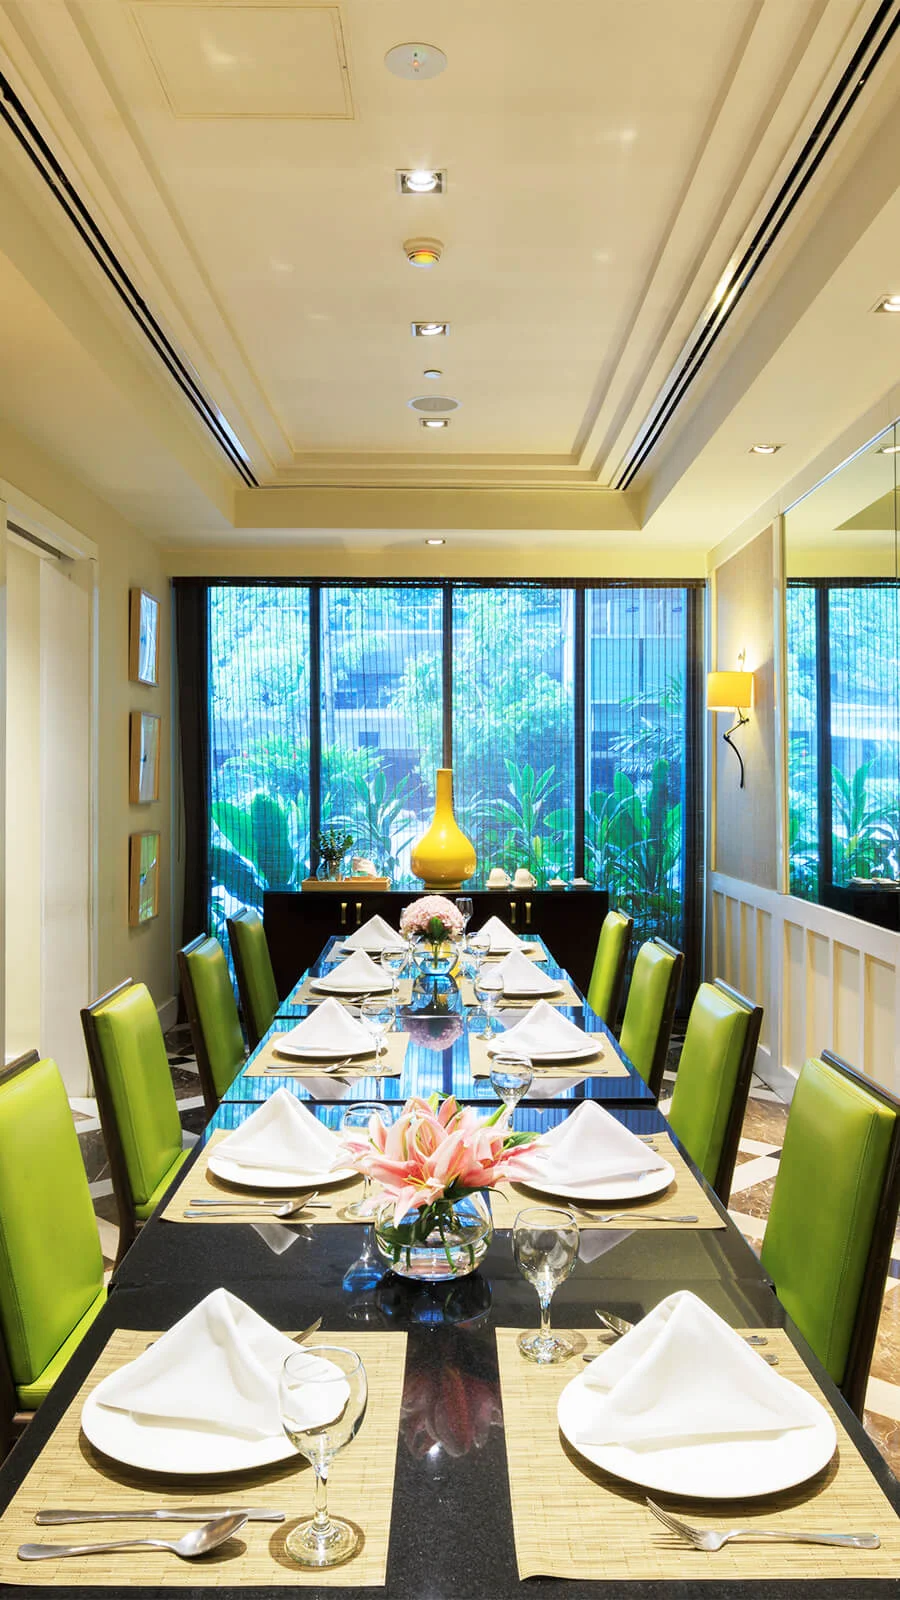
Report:
[[[69,1584],[78,1589],[96,1584],[104,1589],[136,1586],[235,1587],[303,1586],[307,1589],[373,1587],[384,1584],[388,1570],[388,1538],[391,1533],[391,1501],[394,1496],[394,1459],[400,1427],[400,1395],[404,1389],[405,1333],[356,1331],[352,1347],[362,1357],[368,1378],[368,1408],[356,1440],[336,1458],[328,1472],[328,1504],[335,1512],[356,1522],[365,1534],[359,1555],[331,1571],[309,1571],[285,1555],[283,1541],[298,1517],[312,1512],[312,1470],[291,1456],[274,1467],[229,1474],[227,1480],[175,1478],[136,1472],[102,1456],[80,1430],[80,1414],[86,1395],[101,1378],[135,1360],[154,1338],[117,1328],[96,1366],[30,1469],[21,1488],[0,1517],[0,1582]],[[319,1336],[322,1341],[328,1334]],[[346,1342],[346,1334],[335,1334]],[[223,1486],[224,1485],[224,1486]],[[19,1544],[75,1544],[127,1539],[133,1536],[179,1539],[191,1523],[98,1523],[80,1528],[35,1528],[34,1514],[42,1506],[72,1506],[104,1510],[130,1510],[141,1506],[280,1506],[283,1523],[248,1522],[221,1550],[199,1562],[183,1562],[178,1555],[155,1550],[120,1550],[115,1555],[67,1557],[66,1560],[19,1562]]]

